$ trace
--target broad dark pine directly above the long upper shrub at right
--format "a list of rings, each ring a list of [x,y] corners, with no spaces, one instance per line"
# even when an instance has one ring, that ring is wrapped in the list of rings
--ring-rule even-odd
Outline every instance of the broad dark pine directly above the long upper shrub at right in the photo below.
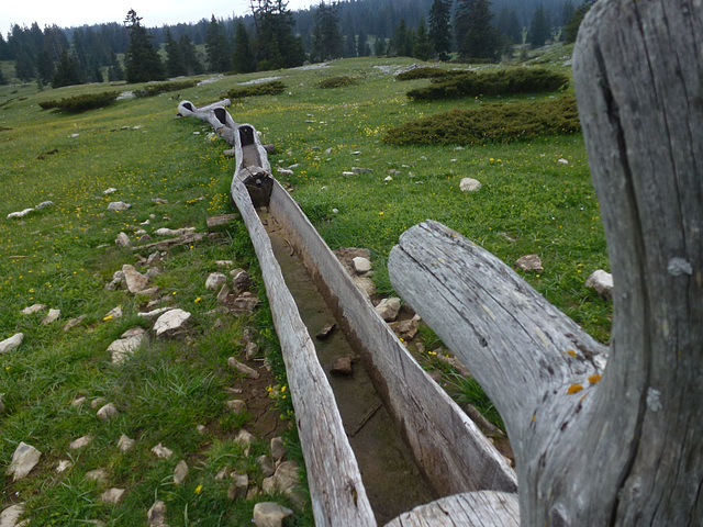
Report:
[[[459,0],[456,15],[459,57],[494,61],[500,49],[500,35],[491,24],[489,0]]]

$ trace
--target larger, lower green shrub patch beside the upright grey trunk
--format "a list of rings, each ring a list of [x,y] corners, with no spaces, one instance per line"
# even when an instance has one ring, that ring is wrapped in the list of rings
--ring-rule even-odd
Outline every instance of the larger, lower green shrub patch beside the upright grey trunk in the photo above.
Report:
[[[579,130],[576,98],[563,97],[554,101],[453,110],[391,128],[383,142],[391,145],[477,145],[572,134]]]

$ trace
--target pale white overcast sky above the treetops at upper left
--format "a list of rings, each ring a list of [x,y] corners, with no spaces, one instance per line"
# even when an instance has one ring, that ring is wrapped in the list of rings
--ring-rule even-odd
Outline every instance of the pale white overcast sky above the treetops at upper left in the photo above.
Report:
[[[291,11],[305,9],[319,0],[289,0]],[[130,9],[142,16],[147,27],[178,22],[198,22],[200,19],[219,19],[249,12],[249,0],[2,0],[0,33],[7,38],[12,24],[26,25],[37,22],[40,27],[56,24],[59,27],[122,23]]]

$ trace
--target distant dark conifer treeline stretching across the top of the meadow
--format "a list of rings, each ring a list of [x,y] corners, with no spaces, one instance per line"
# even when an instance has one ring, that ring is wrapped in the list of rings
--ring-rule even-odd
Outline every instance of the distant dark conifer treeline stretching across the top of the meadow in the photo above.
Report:
[[[171,66],[182,60],[181,56],[188,56],[189,67],[183,68],[181,64],[169,68],[165,64],[165,75],[174,70],[180,75],[192,75],[203,70],[276,69],[305,60],[364,55],[411,55],[423,59],[438,56],[447,59],[454,54],[464,59],[495,60],[501,54],[510,53],[515,44],[536,47],[568,37],[567,29],[574,13],[585,11],[583,4],[588,7],[591,2],[347,0],[321,1],[305,10],[289,11],[284,0],[255,0],[254,12],[245,16],[203,18],[196,23],[160,27],[148,27],[148,21],[145,21],[144,27],[152,45],[163,51],[165,61],[170,58]],[[266,9],[271,10],[268,14],[272,16],[261,15]],[[271,33],[271,24],[267,21],[276,27],[283,27],[283,33],[290,30],[291,40],[275,42],[271,47],[271,38],[276,41],[287,36]],[[13,60],[15,77],[21,81],[65,86],[105,78],[121,80],[124,78],[124,63],[118,59],[118,55],[130,48],[132,25],[108,22],[81,27],[52,25],[42,29],[37,23],[30,27],[15,24],[9,34],[0,33],[0,60]],[[440,34],[445,42],[439,42]],[[471,38],[489,49],[476,48]],[[252,58],[247,64],[242,57],[243,46],[249,46],[246,52]],[[261,46],[267,48],[263,55],[259,53]],[[166,56],[174,53],[177,57]],[[59,79],[56,79],[57,74]],[[0,82],[7,80],[11,79],[3,79],[0,71]]]

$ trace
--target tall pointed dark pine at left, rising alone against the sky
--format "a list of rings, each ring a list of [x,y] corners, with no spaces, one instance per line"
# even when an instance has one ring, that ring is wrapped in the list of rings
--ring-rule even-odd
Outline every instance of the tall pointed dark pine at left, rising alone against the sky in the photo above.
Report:
[[[127,82],[148,82],[164,80],[165,70],[158,52],[152,46],[153,38],[141,24],[142,18],[131,9],[124,21],[130,30],[130,47],[124,54],[124,66]]]

